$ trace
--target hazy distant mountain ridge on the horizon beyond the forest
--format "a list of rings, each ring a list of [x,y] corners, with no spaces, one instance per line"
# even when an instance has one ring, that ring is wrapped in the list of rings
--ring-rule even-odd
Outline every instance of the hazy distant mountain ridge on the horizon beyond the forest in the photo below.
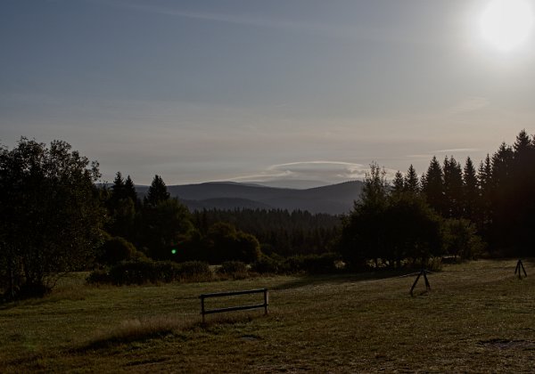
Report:
[[[147,186],[136,186],[143,196]],[[168,186],[173,197],[191,210],[202,208],[259,208],[308,210],[310,213],[347,213],[362,191],[362,182],[353,181],[296,190],[250,183],[211,182]]]

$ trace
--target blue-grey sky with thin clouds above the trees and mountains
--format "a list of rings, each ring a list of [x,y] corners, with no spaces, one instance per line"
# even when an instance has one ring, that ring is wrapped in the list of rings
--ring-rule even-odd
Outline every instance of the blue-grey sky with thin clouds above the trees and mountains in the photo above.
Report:
[[[490,4],[2,0],[0,143],[61,139],[136,184],[479,164],[535,134],[533,27],[493,44]]]

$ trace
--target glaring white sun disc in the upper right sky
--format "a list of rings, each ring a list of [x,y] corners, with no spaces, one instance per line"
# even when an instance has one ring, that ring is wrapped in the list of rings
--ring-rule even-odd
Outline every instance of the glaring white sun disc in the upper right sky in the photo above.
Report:
[[[493,0],[480,19],[483,38],[504,52],[523,45],[532,26],[533,12],[526,0]]]

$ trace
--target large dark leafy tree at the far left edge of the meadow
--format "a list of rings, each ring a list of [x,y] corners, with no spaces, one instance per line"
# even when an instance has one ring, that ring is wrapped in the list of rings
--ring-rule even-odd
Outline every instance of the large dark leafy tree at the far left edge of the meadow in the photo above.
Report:
[[[0,276],[10,297],[41,296],[93,259],[104,217],[99,176],[98,163],[67,142],[0,147]]]

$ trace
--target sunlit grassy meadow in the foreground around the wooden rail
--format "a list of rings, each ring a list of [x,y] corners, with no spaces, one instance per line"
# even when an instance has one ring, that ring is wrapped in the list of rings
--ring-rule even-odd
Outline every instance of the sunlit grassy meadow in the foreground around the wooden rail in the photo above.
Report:
[[[447,265],[415,297],[415,276],[122,288],[73,278],[43,300],[0,305],[0,372],[534,371],[535,266],[524,262],[529,276],[518,280],[515,264]],[[263,287],[268,316],[209,315],[202,325],[200,294]]]

